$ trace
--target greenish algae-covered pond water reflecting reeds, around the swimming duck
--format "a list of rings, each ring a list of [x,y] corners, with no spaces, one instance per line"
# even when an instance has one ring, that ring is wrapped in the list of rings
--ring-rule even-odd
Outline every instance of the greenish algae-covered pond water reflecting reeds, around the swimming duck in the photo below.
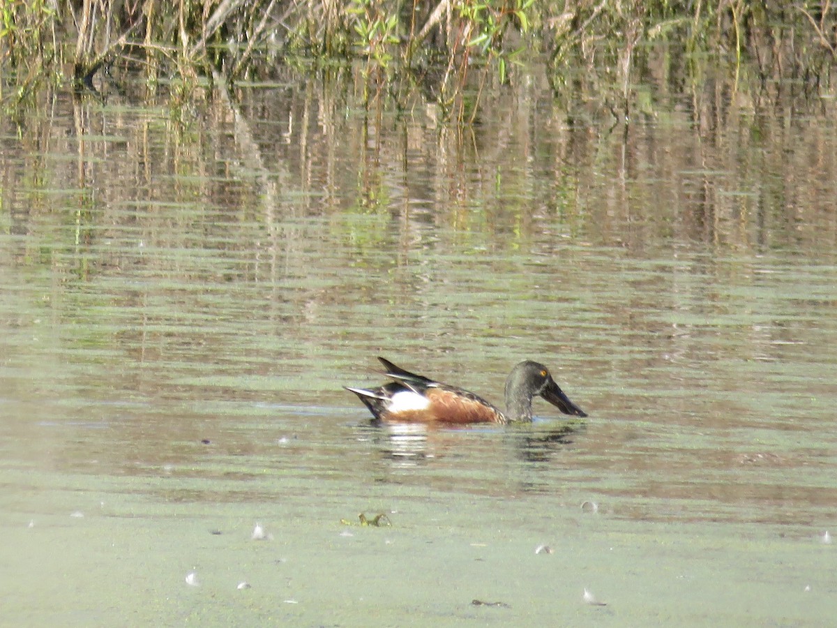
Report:
[[[3,122],[0,623],[831,622],[834,99],[355,89]],[[372,428],[378,355],[589,417]]]

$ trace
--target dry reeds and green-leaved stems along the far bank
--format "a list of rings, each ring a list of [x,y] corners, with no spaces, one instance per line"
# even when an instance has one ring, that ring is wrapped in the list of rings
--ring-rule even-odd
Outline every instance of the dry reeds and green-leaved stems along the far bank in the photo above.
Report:
[[[90,88],[96,77],[137,69],[151,87],[173,85],[182,103],[213,72],[230,83],[264,81],[292,59],[358,59],[367,106],[391,99],[403,109],[419,93],[458,121],[476,119],[486,86],[515,80],[526,51],[547,54],[557,95],[581,80],[619,116],[633,110],[649,44],[663,44],[670,69],[686,69],[695,85],[708,54],[734,85],[797,77],[816,87],[837,51],[829,3],[33,0],[3,2],[0,17],[2,75],[14,77],[4,100],[27,101],[41,81],[60,80],[65,65]]]

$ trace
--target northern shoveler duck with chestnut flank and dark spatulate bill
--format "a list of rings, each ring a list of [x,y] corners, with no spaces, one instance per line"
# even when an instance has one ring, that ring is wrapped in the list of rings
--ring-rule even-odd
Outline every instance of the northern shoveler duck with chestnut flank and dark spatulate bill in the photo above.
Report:
[[[357,394],[376,420],[451,424],[531,421],[531,399],[535,395],[540,395],[564,414],[587,416],[558,388],[549,369],[531,360],[512,368],[506,378],[506,412],[503,413],[467,390],[410,373],[384,358],[377,359],[387,369],[384,374],[393,382],[377,389],[345,387]]]

